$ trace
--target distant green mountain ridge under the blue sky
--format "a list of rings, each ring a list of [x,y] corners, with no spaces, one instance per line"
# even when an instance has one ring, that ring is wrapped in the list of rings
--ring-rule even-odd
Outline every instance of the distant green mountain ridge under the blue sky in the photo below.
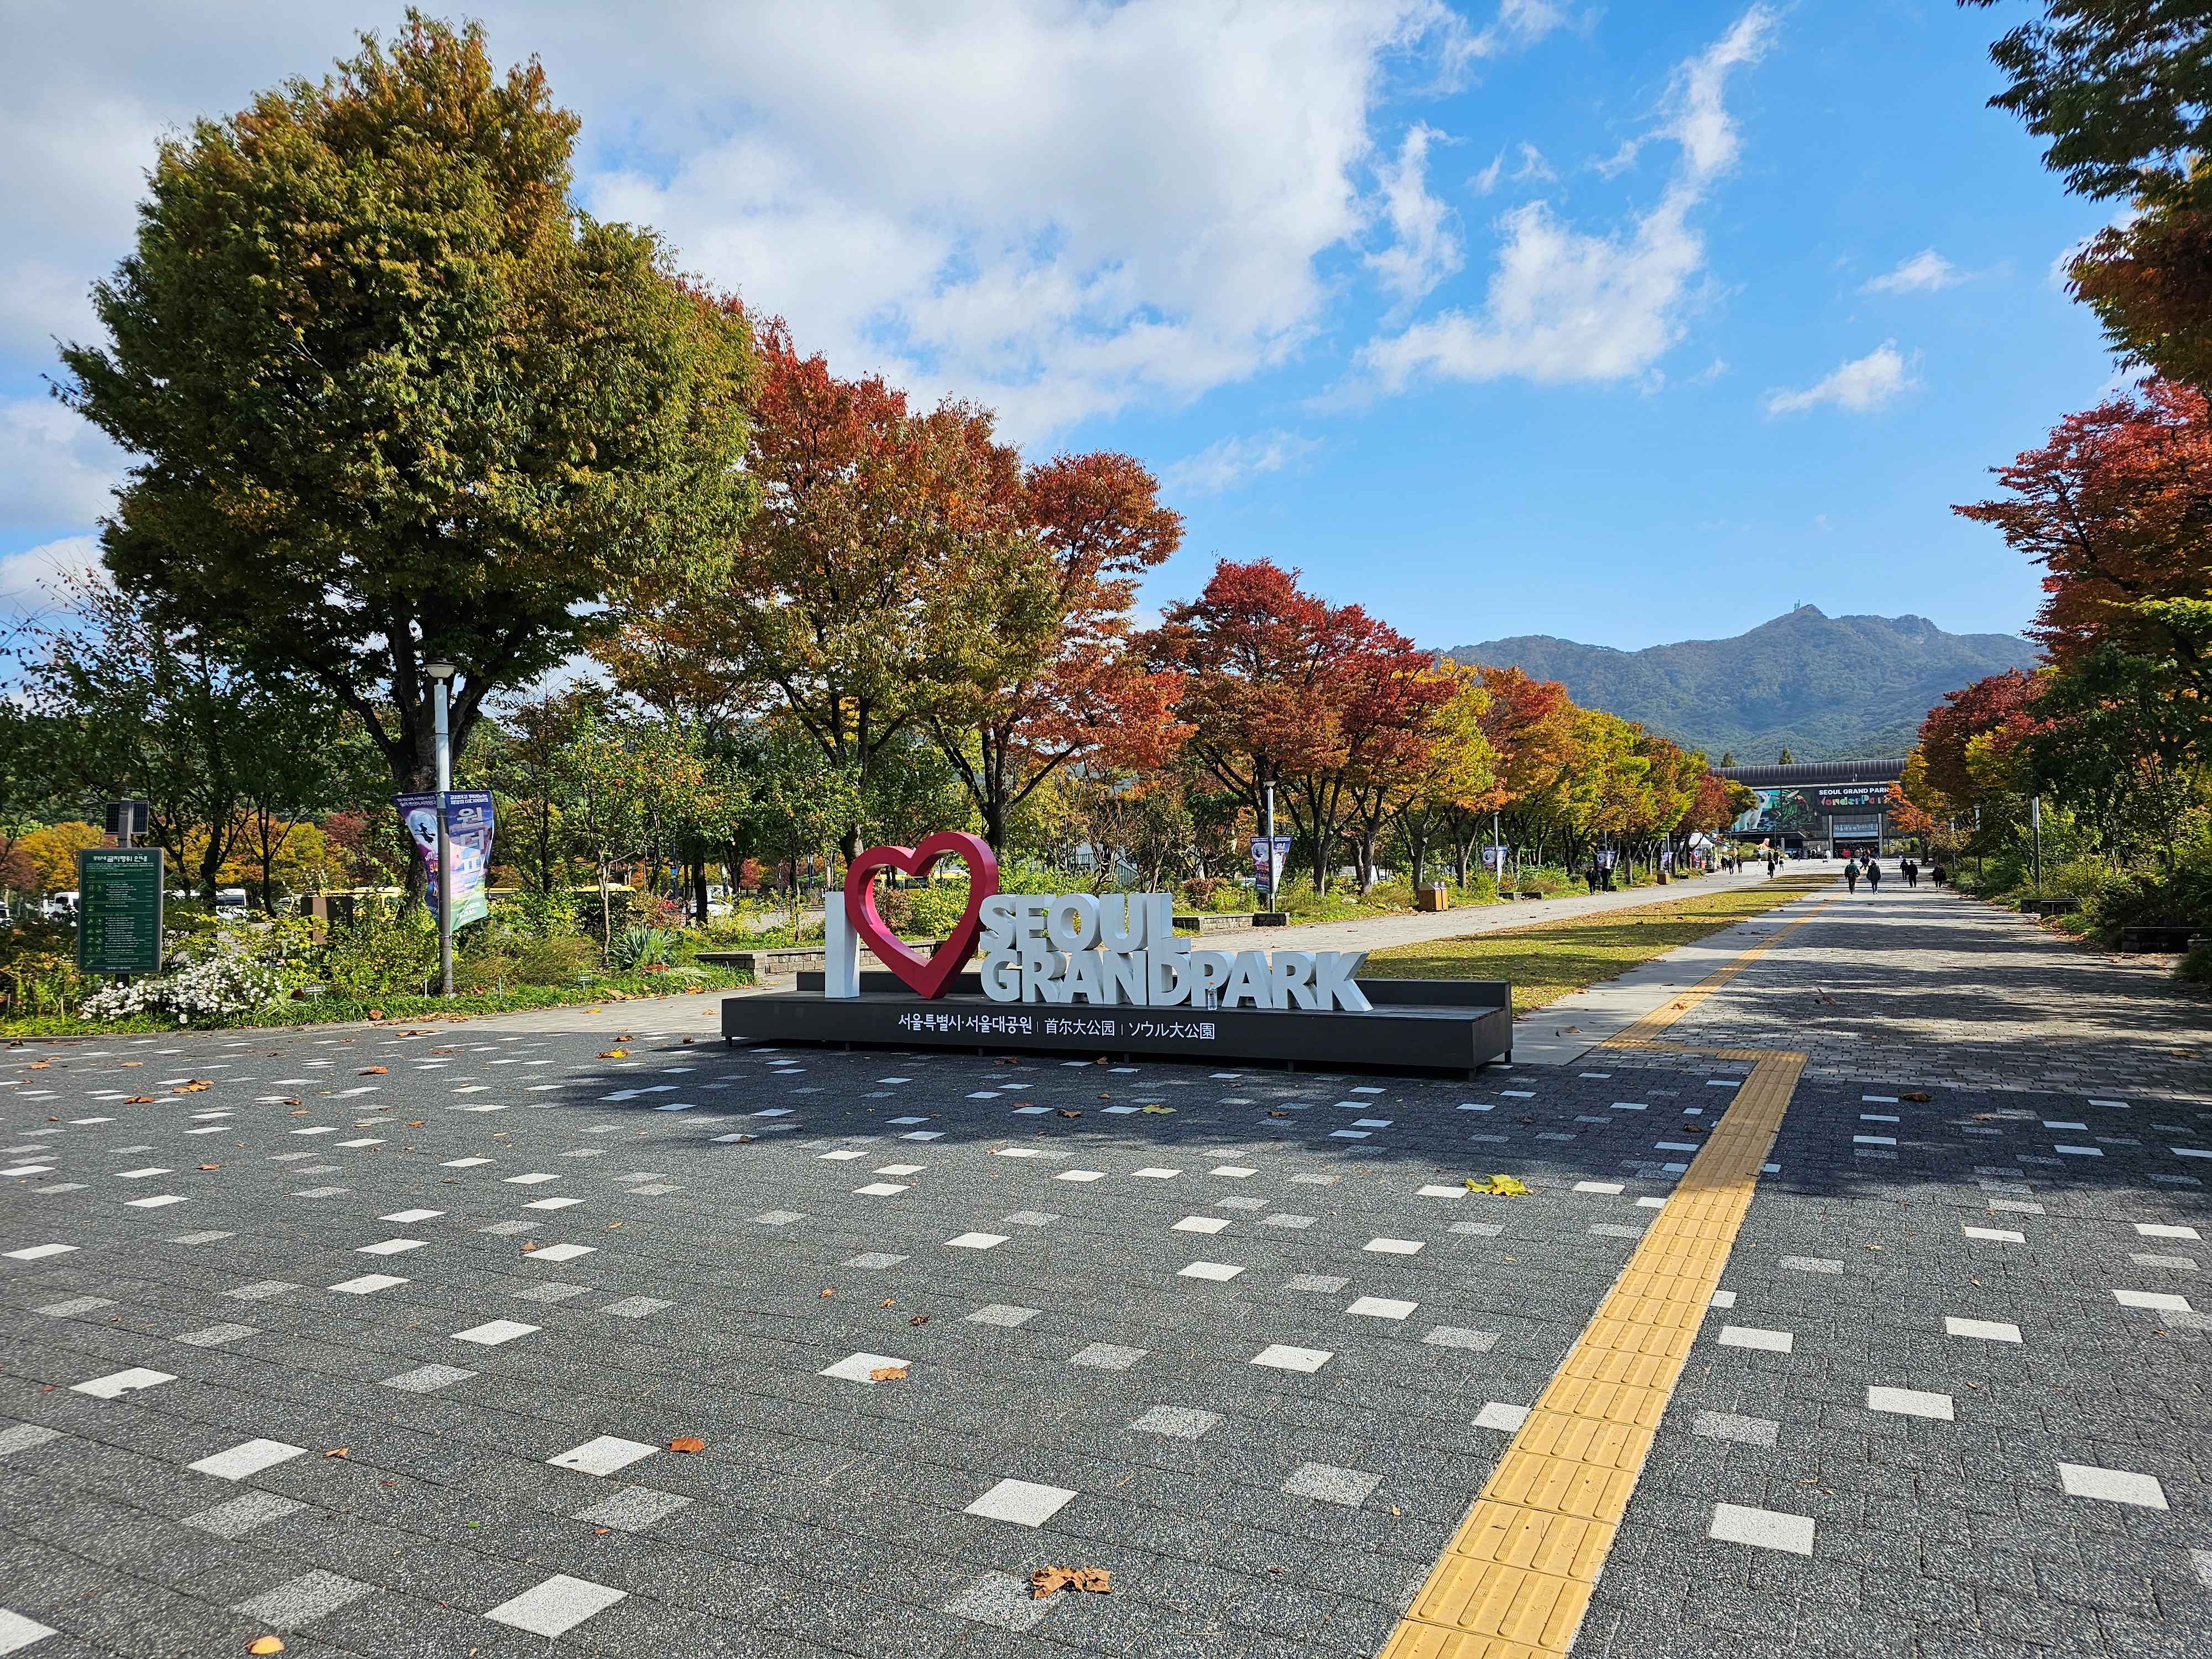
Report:
[[[1557,679],[1577,703],[1745,765],[1783,748],[1801,761],[1905,754],[1944,692],[2037,659],[2017,635],[1944,633],[1909,613],[1829,617],[1812,604],[1725,639],[1619,650],[1513,635],[1442,655]]]

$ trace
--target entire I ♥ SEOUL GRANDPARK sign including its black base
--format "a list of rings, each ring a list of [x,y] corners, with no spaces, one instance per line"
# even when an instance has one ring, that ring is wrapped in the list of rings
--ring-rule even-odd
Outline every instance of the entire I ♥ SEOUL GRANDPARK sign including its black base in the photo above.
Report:
[[[967,865],[969,898],[922,956],[883,920],[876,878],[927,878],[947,858]],[[1194,949],[1168,894],[1004,894],[991,847],[960,832],[863,852],[823,925],[823,971],[728,998],[726,1040],[1460,1073],[1513,1053],[1506,984],[1360,984],[1365,951]],[[863,947],[885,971],[863,973]]]

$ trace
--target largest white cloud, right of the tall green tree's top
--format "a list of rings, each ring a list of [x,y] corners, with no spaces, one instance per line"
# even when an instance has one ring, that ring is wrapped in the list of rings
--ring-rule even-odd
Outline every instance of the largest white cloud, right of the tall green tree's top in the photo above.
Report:
[[[1440,0],[883,0],[692,24],[666,53],[699,64],[681,95],[701,131],[666,166],[586,168],[586,201],[661,228],[841,367],[980,396],[1018,436],[1287,358],[1329,301],[1323,254],[1376,212],[1420,234],[1427,139],[1378,168],[1380,201],[1363,190],[1389,64],[1464,44]],[[1442,257],[1433,223],[1394,279]]]

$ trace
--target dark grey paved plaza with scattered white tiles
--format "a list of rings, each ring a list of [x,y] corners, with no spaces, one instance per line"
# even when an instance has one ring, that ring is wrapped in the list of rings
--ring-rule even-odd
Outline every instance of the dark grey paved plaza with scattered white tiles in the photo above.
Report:
[[[1473,1082],[11,1048],[0,1652],[2212,1652],[2212,1004],[1931,889],[1745,938]],[[1641,1473],[1515,1486],[1756,1091]],[[1458,1588],[1478,1498],[1586,1610]]]

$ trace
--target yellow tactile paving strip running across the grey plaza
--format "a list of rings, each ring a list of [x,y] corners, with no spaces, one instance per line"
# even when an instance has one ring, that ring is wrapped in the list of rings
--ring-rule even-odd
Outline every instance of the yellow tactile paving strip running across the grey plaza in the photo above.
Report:
[[[1663,1031],[1812,916],[1699,980],[1613,1042]],[[1798,1073],[1801,1053],[1752,1060],[1734,1102],[1659,1210],[1621,1276],[1482,1486],[1383,1659],[1544,1659],[1575,1644],[1659,1418],[1721,1285]]]

